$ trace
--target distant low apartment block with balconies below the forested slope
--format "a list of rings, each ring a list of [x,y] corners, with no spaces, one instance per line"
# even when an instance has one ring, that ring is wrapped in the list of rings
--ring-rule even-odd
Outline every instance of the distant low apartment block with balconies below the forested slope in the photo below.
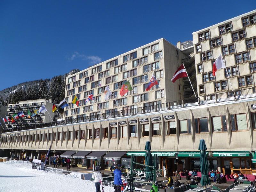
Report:
[[[34,110],[38,110],[42,105],[46,107],[47,112],[45,114],[40,113],[34,117],[28,118],[28,110],[30,111],[31,114],[34,113]],[[12,129],[13,127],[15,128],[16,126],[21,127],[21,126],[29,126],[29,125],[34,125],[38,126],[38,124],[43,124],[43,123],[51,123],[52,121],[57,121],[59,114],[57,111],[52,113],[52,100],[46,100],[46,99],[38,99],[38,100],[27,100],[27,101],[20,101],[19,103],[16,104],[9,104],[8,105],[8,115],[9,119],[11,119],[13,114],[18,114],[19,112],[23,111],[24,115],[26,117],[20,117],[19,120],[16,120],[15,123],[8,123],[6,124],[7,128]],[[17,124],[17,125],[16,125]],[[36,125],[37,124],[37,125]]]

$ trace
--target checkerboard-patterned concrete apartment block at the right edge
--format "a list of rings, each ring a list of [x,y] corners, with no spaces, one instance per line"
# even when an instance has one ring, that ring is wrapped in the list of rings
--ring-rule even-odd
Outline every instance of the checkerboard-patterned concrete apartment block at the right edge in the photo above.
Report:
[[[256,10],[193,33],[198,96],[211,99],[222,92],[229,97],[255,86]],[[223,55],[225,69],[212,75],[213,62]],[[230,83],[228,80],[230,77]]]

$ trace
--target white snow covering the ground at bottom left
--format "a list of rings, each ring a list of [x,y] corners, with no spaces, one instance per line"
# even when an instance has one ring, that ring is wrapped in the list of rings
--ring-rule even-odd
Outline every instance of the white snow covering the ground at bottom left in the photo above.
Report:
[[[76,179],[62,174],[63,170],[52,168],[48,172],[32,169],[32,164],[24,161],[0,163],[0,192],[26,191],[95,191],[91,181]],[[114,187],[104,186],[105,192],[113,192]]]

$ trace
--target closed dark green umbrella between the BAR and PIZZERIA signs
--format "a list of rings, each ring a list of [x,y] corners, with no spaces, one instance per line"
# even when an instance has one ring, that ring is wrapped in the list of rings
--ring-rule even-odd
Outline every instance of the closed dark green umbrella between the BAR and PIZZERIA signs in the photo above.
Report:
[[[210,185],[210,179],[208,176],[208,163],[207,163],[207,155],[206,155],[206,145],[204,139],[200,139],[199,148],[200,150],[200,170],[201,170],[201,185],[206,186]]]

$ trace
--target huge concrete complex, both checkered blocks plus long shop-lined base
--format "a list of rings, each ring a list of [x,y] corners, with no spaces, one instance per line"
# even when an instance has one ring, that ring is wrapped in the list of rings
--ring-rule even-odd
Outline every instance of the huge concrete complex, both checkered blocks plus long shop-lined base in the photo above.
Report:
[[[246,78],[249,75],[254,79],[250,64],[256,59],[256,24],[252,23],[255,13],[249,12],[193,33],[192,48],[182,48],[180,42],[175,47],[165,39],[159,39],[68,76],[66,100],[70,109],[64,110],[65,121],[41,128],[8,130],[1,134],[0,148],[13,150],[19,158],[28,155],[43,158],[51,146],[50,156],[73,158],[74,162],[87,168],[100,165],[101,169],[109,169],[112,158],[129,167],[132,154],[137,162],[144,163],[145,143],[150,141],[152,154],[158,156],[159,168],[167,169],[172,175],[177,170],[200,169],[198,145],[200,139],[204,139],[209,170],[218,169],[223,174],[256,174],[256,92],[254,81],[250,84]],[[246,39],[241,38],[244,32],[240,31],[245,31]],[[236,32],[238,40],[232,42]],[[250,38],[254,41],[253,47],[247,48],[246,41]],[[211,44],[213,40],[216,48]],[[220,40],[222,44],[218,45]],[[233,65],[238,68],[238,75],[230,76],[234,92],[229,85],[225,88],[225,83],[221,84],[227,81],[224,70],[216,72],[216,80],[210,74],[212,61],[225,50],[223,46],[228,45],[230,51],[232,44],[235,53],[230,52],[224,57],[227,67],[231,67],[230,73],[235,72]],[[211,49],[210,45],[213,46]],[[243,57],[246,52],[250,62]],[[232,58],[235,62],[239,53],[243,62],[232,63]],[[204,54],[206,60],[204,57],[201,60]],[[175,84],[171,82],[181,63],[188,71],[192,86],[197,88],[197,98],[186,78]],[[151,71],[160,80],[164,97],[157,87],[144,92]],[[206,73],[210,82],[203,82]],[[239,87],[243,76],[246,83]],[[127,79],[135,92],[120,97],[120,87]],[[223,86],[220,91],[215,91],[218,82]],[[113,97],[107,100],[103,94],[106,85],[113,92]],[[89,91],[95,100],[86,104]],[[82,106],[71,104],[75,95]]]

